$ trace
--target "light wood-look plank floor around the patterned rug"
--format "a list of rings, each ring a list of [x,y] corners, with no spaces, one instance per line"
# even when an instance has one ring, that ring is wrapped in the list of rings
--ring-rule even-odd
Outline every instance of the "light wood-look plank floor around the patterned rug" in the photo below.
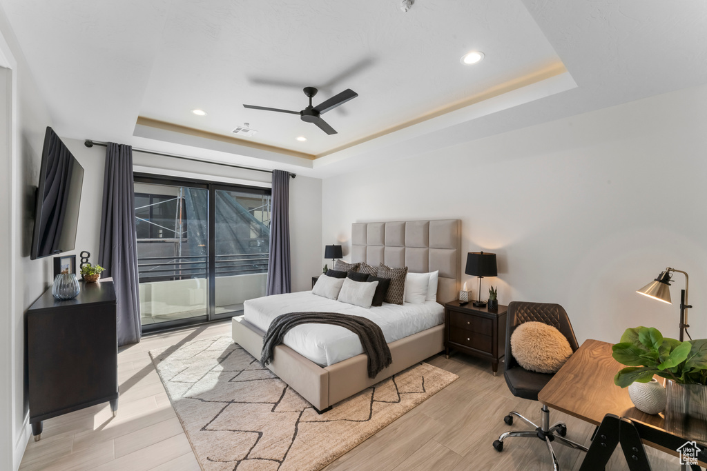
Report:
[[[197,338],[230,335],[230,321],[144,338],[118,354],[119,410],[97,405],[45,421],[42,440],[27,446],[20,469],[34,470],[199,470],[187,436],[148,356],[156,347]],[[551,470],[547,447],[537,439],[508,439],[502,453],[491,447],[512,427],[503,417],[516,410],[539,419],[539,403],[513,397],[488,362],[454,354],[428,360],[460,378],[335,460],[341,470]],[[551,411],[564,420],[568,438],[589,443],[590,424]],[[578,470],[580,452],[554,446],[562,470]],[[678,470],[677,458],[649,449],[654,471]],[[607,470],[628,470],[620,451]]]

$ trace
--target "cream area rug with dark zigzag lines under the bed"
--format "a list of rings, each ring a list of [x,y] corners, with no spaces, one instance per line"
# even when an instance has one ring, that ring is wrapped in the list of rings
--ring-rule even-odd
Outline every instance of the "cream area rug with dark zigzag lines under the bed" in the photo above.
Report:
[[[419,363],[319,415],[230,337],[150,356],[207,471],[320,470],[458,378]]]

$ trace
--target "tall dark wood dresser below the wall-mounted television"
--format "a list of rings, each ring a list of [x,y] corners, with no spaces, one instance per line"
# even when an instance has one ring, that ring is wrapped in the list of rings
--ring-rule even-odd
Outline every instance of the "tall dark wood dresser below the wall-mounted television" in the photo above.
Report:
[[[118,344],[113,282],[81,282],[76,299],[51,287],[27,311],[30,424],[110,401],[118,407]]]

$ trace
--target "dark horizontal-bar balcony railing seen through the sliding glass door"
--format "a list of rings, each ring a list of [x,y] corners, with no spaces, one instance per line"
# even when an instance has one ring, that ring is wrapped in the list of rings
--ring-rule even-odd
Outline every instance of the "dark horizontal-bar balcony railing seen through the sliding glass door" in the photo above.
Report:
[[[261,254],[228,254],[216,256],[216,276],[249,275],[252,273],[267,273],[269,253]],[[156,282],[171,280],[189,280],[206,278],[208,270],[206,256],[181,257],[139,257],[139,282]]]

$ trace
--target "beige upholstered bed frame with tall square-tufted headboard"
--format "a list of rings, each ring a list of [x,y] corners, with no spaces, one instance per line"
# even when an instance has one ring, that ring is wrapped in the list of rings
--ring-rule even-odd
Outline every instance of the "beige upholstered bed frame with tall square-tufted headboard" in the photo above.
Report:
[[[460,220],[356,222],[351,227],[351,263],[372,266],[407,266],[411,273],[439,270],[437,302],[457,299],[460,285],[462,223]],[[233,340],[253,357],[260,358],[265,333],[242,317],[233,318]],[[286,345],[274,349],[268,368],[325,412],[385,378],[444,350],[444,325],[423,330],[388,344],[392,364],[375,378],[368,378],[368,357],[359,354],[319,366]]]

